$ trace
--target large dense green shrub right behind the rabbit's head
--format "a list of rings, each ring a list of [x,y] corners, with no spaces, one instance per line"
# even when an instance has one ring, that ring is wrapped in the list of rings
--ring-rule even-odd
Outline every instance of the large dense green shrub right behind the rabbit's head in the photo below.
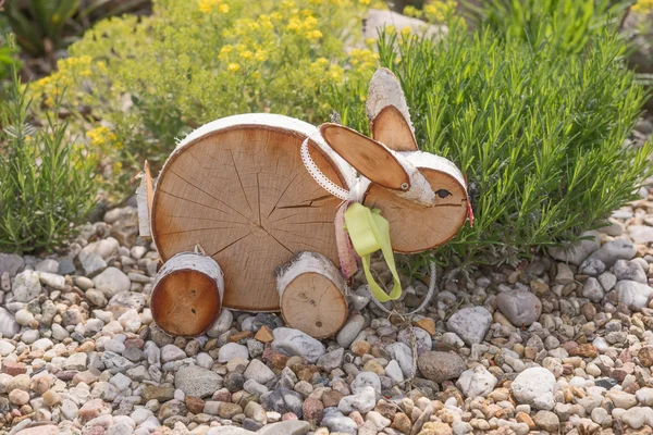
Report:
[[[628,137],[644,92],[624,65],[625,44],[603,32],[579,53],[449,28],[441,41],[385,35],[381,64],[398,76],[423,150],[467,174],[475,226],[441,259],[510,262],[572,240],[634,198],[651,174],[653,144]],[[532,41],[531,41],[532,42]],[[334,89],[342,121],[367,130],[355,79]]]

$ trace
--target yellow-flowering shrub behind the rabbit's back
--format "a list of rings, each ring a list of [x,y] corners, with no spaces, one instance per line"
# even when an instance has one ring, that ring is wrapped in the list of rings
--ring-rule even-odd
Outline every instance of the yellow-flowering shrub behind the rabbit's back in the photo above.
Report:
[[[87,32],[34,95],[48,105],[66,87],[66,107],[103,121],[113,136],[93,130],[93,146],[107,157],[104,177],[124,190],[145,159],[163,161],[176,138],[206,122],[268,111],[325,120],[325,92],[345,64],[361,74],[377,64],[370,50],[344,51],[368,3],[156,0],[151,16]]]

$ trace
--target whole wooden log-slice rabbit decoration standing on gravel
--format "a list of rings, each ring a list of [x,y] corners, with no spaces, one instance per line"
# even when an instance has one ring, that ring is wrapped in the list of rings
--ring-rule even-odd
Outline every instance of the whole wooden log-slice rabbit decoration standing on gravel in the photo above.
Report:
[[[151,300],[159,326],[193,336],[222,307],[264,312],[280,306],[291,326],[316,337],[344,324],[334,225],[343,201],[307,171],[304,142],[329,183],[381,210],[395,251],[421,252],[455,236],[468,215],[465,179],[448,160],[418,150],[389,70],[374,74],[367,112],[372,139],[275,114],[221,119],[178,144],[156,186],[146,171],[141,236],[151,236],[165,262]]]

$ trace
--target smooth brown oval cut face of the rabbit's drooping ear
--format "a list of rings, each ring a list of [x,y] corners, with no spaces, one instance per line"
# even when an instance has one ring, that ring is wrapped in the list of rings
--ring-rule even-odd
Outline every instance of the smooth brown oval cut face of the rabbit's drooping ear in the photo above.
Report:
[[[410,177],[397,157],[383,144],[337,124],[322,124],[329,146],[366,178],[394,190],[408,190]]]

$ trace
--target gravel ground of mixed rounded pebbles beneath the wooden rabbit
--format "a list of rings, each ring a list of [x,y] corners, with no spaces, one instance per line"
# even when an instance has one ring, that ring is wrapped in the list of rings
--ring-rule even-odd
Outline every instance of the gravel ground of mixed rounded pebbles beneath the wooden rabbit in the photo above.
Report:
[[[322,341],[229,310],[168,336],[148,308],[157,252],[134,208],[112,210],[67,257],[0,254],[0,434],[650,434],[653,188],[640,194],[572,250],[443,284],[414,335],[360,285]]]

